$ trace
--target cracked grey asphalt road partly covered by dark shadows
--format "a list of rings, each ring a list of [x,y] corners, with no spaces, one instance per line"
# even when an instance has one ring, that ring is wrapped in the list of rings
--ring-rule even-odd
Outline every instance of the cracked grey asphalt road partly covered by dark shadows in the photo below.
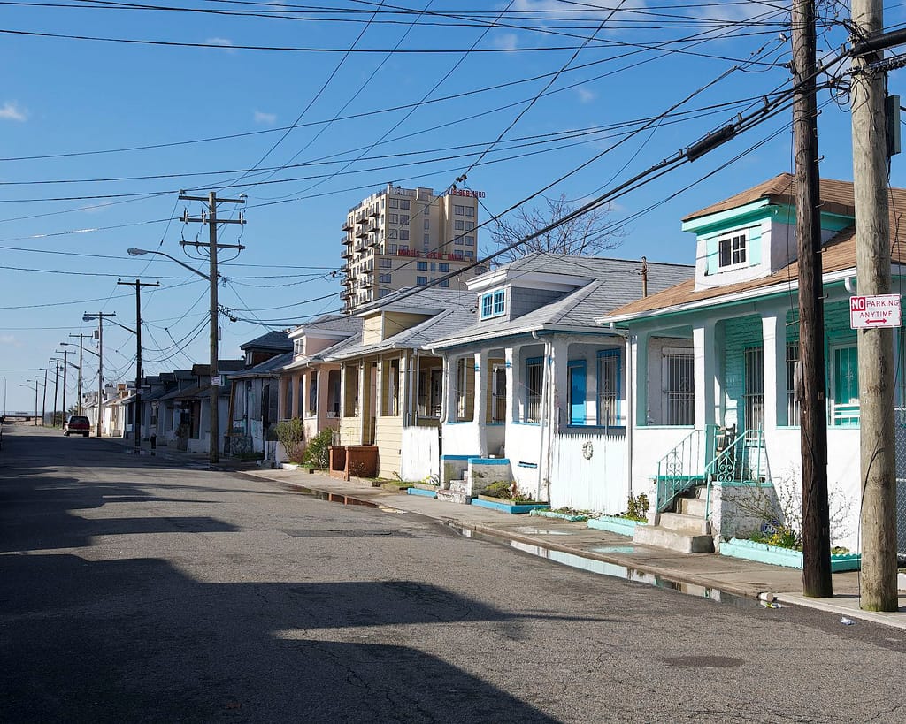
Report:
[[[0,721],[906,720],[906,632],[7,427]]]

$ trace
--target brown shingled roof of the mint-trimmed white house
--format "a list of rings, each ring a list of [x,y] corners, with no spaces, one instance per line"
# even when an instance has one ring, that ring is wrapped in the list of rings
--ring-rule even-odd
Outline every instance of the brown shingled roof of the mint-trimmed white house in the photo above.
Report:
[[[788,174],[783,174],[781,176],[789,176]],[[776,178],[780,178],[777,176]],[[772,179],[772,181],[776,181]],[[770,184],[771,182],[766,182]],[[709,206],[707,213],[713,213],[714,210],[726,210],[727,208],[732,208],[732,206],[726,206],[732,199],[739,199],[737,205],[747,204],[752,200],[752,194],[757,193],[755,189],[761,189],[766,186],[762,184],[760,186],[755,186],[754,189],[749,189],[748,191],[742,192],[742,194],[737,194],[731,196],[726,202],[720,202],[716,205]],[[833,181],[833,180],[822,180],[822,198],[824,199],[824,189],[833,188],[834,194],[837,200],[840,201],[842,196],[839,194],[843,193],[847,187],[849,189],[849,194],[852,199],[853,194],[853,184],[846,181]],[[794,189],[791,189],[794,190]],[[779,197],[778,197],[779,198]],[[788,199],[779,203],[793,203],[793,199]],[[823,202],[824,203],[824,202]],[[824,209],[824,207],[823,207]],[[890,189],[890,222],[891,222],[891,238],[892,238],[892,251],[891,251],[891,262],[893,264],[903,264],[906,263],[906,228],[903,228],[902,222],[906,221],[903,219],[903,214],[906,214],[906,189],[901,188],[891,188]],[[687,218],[692,218],[697,214],[702,212],[697,212],[692,214]],[[899,231],[899,235],[897,232]],[[851,271],[855,269],[855,247],[856,247],[856,238],[855,238],[855,227],[849,226],[842,231],[834,234],[823,246],[823,252],[821,254],[822,261],[822,272],[824,274],[825,281],[828,276],[833,277],[834,274],[840,276],[847,276],[846,271]],[[724,297],[735,298],[735,297],[760,297],[766,294],[773,293],[774,291],[794,291],[799,287],[799,262],[794,260],[783,267],[775,271],[773,274],[770,274],[766,277],[761,277],[759,279],[753,279],[749,281],[738,281],[733,284],[726,284],[724,286],[709,287],[708,289],[695,289],[695,281],[688,280],[683,281],[682,283],[671,287],[668,290],[662,291],[659,294],[653,294],[650,297],[646,297],[643,300],[633,301],[629,304],[622,306],[619,309],[613,310],[608,315],[599,315],[598,321],[602,323],[607,323],[611,321],[625,321],[627,319],[632,319],[635,317],[646,317],[650,316],[652,313],[667,313],[670,311],[681,310],[684,308],[701,306],[706,303],[713,303],[715,300],[719,300]]]

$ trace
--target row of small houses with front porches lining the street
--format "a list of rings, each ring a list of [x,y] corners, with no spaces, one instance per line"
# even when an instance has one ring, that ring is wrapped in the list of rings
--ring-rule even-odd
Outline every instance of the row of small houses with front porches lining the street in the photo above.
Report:
[[[906,192],[891,195],[906,208]],[[826,406],[834,543],[858,550],[852,184],[823,180],[821,201],[828,395],[809,403]],[[269,427],[298,417],[308,436],[333,430],[338,451],[370,450],[374,475],[439,481],[448,500],[509,481],[554,508],[618,513],[644,492],[656,536],[659,516],[687,514],[679,501],[701,485],[702,538],[769,523],[761,503],[789,508],[801,483],[794,179],[682,228],[694,264],[535,253],[467,291],[396,291],[255,339],[222,388],[229,447],[266,453]],[[894,244],[895,280],[901,254]],[[148,429],[170,442],[188,424],[188,448],[207,449],[209,381],[180,374],[150,378]]]

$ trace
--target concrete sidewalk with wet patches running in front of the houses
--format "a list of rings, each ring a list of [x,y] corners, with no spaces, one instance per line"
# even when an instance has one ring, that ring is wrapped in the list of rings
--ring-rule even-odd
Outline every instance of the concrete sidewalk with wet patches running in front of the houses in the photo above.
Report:
[[[178,452],[170,448],[159,448],[157,455],[161,458],[191,459],[199,467],[207,463],[207,455]],[[808,606],[839,614],[842,618],[906,629],[906,595],[901,595],[899,611],[895,613],[860,609],[858,571],[834,574],[833,598],[809,598],[802,595],[802,571],[795,568],[768,566],[710,553],[685,554],[664,548],[637,546],[631,538],[590,529],[583,522],[508,515],[474,505],[386,491],[372,487],[370,481],[347,482],[301,470],[271,470],[255,463],[228,460],[218,465],[217,469],[244,472],[279,482],[325,500],[415,513],[467,533],[495,538],[535,555],[599,573],[647,580],[699,595],[722,592],[773,599],[781,605]]]

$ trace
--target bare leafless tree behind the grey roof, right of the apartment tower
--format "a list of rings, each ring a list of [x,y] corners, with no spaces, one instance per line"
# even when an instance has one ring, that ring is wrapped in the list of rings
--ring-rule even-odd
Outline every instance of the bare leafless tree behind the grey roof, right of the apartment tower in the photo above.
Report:
[[[566,200],[566,195],[559,198],[547,198],[545,206],[521,208],[513,215],[512,220],[500,219],[491,231],[491,238],[496,247],[502,248],[536,233],[557,219],[572,214],[576,206]],[[501,254],[502,261],[510,262],[531,252],[550,252],[554,254],[572,254],[598,256],[606,249],[614,249],[622,243],[622,229],[609,229],[607,217],[610,209],[601,206],[586,214],[576,216],[564,224],[557,225],[549,232],[536,236],[531,241],[519,244],[515,249]]]

